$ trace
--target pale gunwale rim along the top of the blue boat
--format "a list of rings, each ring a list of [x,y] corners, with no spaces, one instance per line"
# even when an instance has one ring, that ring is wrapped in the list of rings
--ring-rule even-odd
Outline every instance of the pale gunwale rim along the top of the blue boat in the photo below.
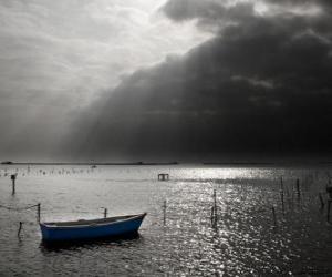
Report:
[[[73,228],[93,228],[93,227],[102,227],[102,226],[110,226],[113,224],[125,223],[138,218],[144,218],[146,213],[137,214],[137,215],[124,215],[124,216],[114,216],[107,218],[97,218],[97,219],[81,219],[74,222],[49,222],[49,223],[40,223],[40,226],[45,227],[48,229],[73,229]],[[124,218],[116,220],[116,218]],[[108,219],[108,220],[107,220]],[[102,220],[96,223],[95,220]],[[77,224],[75,224],[77,223]],[[82,223],[82,224],[80,224]],[[72,225],[56,225],[56,224],[72,224]]]

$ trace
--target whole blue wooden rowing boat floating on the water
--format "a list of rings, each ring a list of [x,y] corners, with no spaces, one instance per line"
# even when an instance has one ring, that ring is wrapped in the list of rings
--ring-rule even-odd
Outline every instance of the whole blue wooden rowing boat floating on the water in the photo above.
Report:
[[[146,213],[76,222],[40,223],[45,243],[97,239],[137,234]]]

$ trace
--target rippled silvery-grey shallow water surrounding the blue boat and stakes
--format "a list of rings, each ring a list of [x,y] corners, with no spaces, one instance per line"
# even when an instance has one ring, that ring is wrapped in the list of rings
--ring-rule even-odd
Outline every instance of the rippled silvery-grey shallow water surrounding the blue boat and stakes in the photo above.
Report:
[[[148,215],[137,238],[54,249],[41,244],[35,208],[0,208],[0,275],[332,276],[332,227],[318,198],[331,172],[328,167],[2,165],[0,205],[41,203],[42,220],[102,217],[103,207],[110,216]],[[11,173],[18,173],[14,196]],[[158,173],[169,173],[170,181],[158,182]],[[217,226],[210,220],[214,189]],[[23,229],[18,238],[20,220]]]

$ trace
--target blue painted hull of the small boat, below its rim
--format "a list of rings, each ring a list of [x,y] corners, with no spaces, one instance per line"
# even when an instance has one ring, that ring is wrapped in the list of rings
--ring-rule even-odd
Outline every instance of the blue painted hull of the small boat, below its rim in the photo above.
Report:
[[[97,239],[113,236],[125,236],[138,232],[146,214],[103,224],[89,224],[77,226],[49,226],[40,224],[42,239],[44,242]],[[112,218],[110,218],[112,219]]]

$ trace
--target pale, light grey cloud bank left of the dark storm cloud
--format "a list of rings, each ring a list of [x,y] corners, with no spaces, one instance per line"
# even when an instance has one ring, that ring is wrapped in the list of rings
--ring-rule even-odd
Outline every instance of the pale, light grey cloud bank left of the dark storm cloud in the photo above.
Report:
[[[163,0],[0,3],[0,156],[59,154],[72,119],[142,66],[209,35],[163,17]]]

